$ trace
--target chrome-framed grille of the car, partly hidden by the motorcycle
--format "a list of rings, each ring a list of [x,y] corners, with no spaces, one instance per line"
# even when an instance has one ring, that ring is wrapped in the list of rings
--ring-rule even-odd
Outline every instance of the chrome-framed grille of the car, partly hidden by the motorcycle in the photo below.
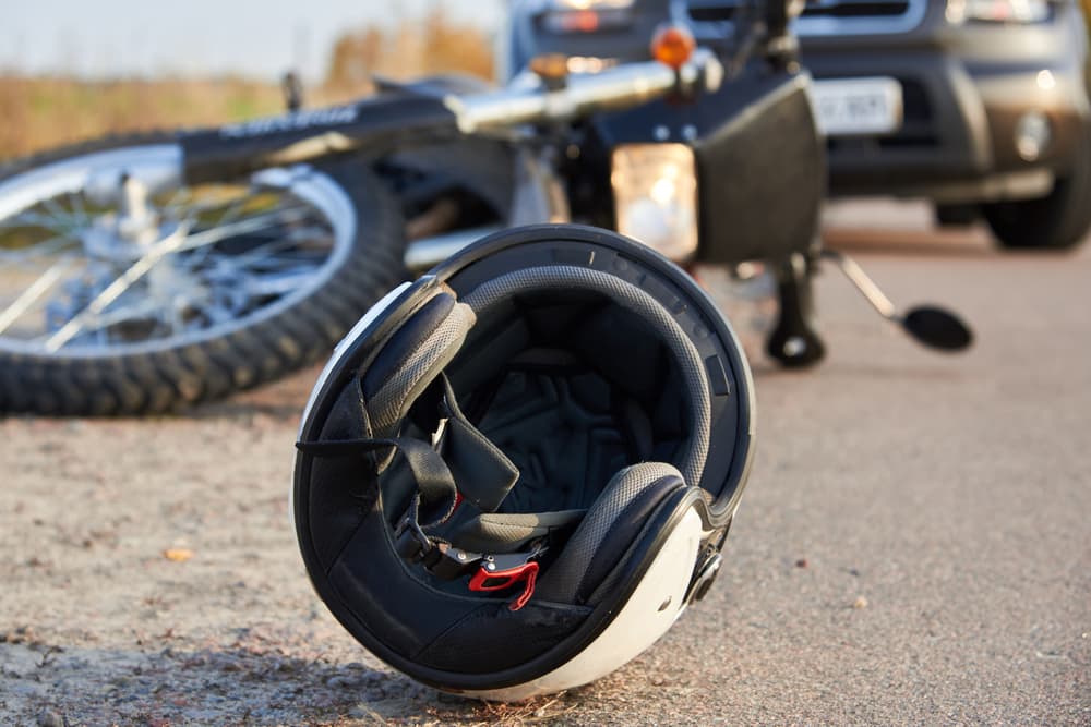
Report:
[[[683,0],[684,13],[700,35],[721,34],[746,12],[745,0]],[[904,33],[921,22],[926,0],[807,0],[794,23],[798,35]]]

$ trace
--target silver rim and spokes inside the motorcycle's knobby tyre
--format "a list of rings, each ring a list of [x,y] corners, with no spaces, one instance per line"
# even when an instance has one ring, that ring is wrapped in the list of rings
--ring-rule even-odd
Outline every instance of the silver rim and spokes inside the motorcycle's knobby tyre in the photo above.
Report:
[[[0,351],[101,358],[272,318],[346,262],[358,220],[310,167],[187,185],[175,144],[88,153],[0,182]]]

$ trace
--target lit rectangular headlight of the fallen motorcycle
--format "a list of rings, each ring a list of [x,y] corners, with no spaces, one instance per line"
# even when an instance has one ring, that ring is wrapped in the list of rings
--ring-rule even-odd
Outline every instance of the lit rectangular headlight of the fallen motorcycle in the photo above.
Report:
[[[697,169],[685,144],[625,144],[613,150],[618,231],[684,263],[697,252]]]

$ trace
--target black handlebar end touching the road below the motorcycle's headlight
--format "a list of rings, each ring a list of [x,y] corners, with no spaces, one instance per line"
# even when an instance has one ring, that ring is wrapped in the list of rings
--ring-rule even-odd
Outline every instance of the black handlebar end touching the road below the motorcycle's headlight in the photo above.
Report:
[[[826,355],[818,336],[812,291],[813,266],[793,253],[776,270],[779,315],[766,352],[787,368],[812,366]]]

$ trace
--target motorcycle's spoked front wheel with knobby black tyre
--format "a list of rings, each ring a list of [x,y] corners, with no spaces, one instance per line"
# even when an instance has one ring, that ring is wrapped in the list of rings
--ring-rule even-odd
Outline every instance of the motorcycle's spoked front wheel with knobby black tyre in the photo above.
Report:
[[[406,279],[362,165],[187,184],[169,136],[0,169],[0,412],[172,411],[316,362]]]

